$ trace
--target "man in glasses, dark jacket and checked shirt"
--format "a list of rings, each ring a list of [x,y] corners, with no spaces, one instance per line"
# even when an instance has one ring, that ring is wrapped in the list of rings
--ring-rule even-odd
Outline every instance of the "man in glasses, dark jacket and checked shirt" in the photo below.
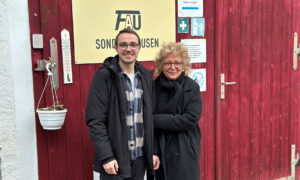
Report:
[[[153,156],[152,72],[136,61],[140,37],[121,30],[115,57],[105,59],[92,80],[86,122],[95,147],[100,180],[143,180],[159,167]]]

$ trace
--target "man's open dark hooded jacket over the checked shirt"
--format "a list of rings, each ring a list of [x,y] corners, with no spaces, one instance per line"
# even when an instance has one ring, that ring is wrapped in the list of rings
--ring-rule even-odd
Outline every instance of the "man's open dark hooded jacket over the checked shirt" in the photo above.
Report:
[[[86,123],[95,147],[94,170],[106,173],[103,164],[115,159],[118,175],[131,176],[126,126],[125,87],[120,79],[119,56],[107,58],[95,73],[87,99]],[[148,173],[153,170],[152,72],[137,61],[135,72],[143,87],[144,158]]]

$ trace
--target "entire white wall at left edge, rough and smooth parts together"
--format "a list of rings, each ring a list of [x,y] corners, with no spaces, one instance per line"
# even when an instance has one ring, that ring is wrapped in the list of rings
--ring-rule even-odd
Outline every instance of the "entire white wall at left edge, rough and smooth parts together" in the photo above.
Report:
[[[0,180],[38,179],[28,4],[0,1]]]

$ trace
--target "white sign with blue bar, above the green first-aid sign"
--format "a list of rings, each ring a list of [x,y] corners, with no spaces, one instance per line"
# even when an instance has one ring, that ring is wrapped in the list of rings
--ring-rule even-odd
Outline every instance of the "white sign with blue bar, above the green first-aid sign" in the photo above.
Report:
[[[203,17],[203,0],[178,0],[178,17]]]

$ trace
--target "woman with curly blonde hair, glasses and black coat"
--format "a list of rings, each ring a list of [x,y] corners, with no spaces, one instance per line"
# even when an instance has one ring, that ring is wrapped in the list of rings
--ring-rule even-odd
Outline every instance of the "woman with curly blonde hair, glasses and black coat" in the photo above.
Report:
[[[153,88],[155,152],[161,166],[157,180],[199,180],[199,120],[202,101],[198,84],[188,77],[190,62],[181,43],[163,45],[155,59]]]

